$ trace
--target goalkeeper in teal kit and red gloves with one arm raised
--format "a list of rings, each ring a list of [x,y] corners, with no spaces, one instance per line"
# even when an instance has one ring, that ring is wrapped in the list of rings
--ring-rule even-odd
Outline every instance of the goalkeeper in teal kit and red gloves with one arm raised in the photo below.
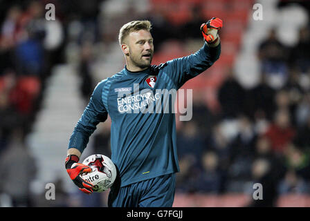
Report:
[[[161,113],[141,110],[133,113],[128,111],[128,105],[142,108],[143,91],[150,90],[156,95],[158,89],[178,90],[186,81],[212,66],[221,52],[218,36],[221,27],[219,18],[203,23],[200,29],[204,44],[197,52],[159,66],[151,65],[154,45],[149,21],[131,21],[120,28],[118,39],[125,55],[125,68],[95,87],[69,140],[65,166],[81,191],[93,192],[92,185],[79,176],[91,171],[89,166],[78,163],[80,156],[96,126],[109,114],[111,160],[118,169],[118,182],[111,187],[109,206],[172,206],[175,173],[179,172],[175,115],[163,110]],[[125,98],[120,97],[122,93]],[[135,96],[137,93],[139,100]],[[164,103],[165,100],[161,100],[161,104]],[[127,108],[123,104],[127,104]]]

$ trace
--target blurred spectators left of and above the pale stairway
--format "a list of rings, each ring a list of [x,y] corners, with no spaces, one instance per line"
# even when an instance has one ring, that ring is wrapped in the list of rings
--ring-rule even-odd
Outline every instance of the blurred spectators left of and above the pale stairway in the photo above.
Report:
[[[51,10],[46,8],[48,3],[55,6],[55,10],[49,12],[49,15],[55,12],[55,20],[46,19],[46,12]],[[33,131],[37,113],[42,109],[53,67],[66,63],[66,46],[77,41],[82,48],[82,42],[86,42],[86,39],[78,39],[82,37],[80,33],[71,39],[68,26],[74,21],[81,21],[91,31],[88,36],[96,36],[91,25],[96,26],[99,3],[1,1],[0,164],[6,167],[0,170],[0,175],[6,177],[0,182],[1,205],[7,202],[10,206],[36,205],[30,185],[39,168],[26,145],[26,137]],[[89,99],[94,83],[84,62],[87,57],[84,51],[78,55],[81,61],[78,74],[83,79],[80,95]]]

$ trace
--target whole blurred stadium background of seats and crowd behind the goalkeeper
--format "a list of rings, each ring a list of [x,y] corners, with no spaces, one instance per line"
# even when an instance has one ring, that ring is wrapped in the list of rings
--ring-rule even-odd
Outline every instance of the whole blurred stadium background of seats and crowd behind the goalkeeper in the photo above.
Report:
[[[48,3],[55,21],[45,19]],[[125,65],[119,28],[152,21],[160,64],[199,49],[199,27],[212,17],[224,21],[221,57],[183,86],[193,89],[193,118],[177,121],[174,206],[310,206],[310,1],[0,4],[0,206],[107,206],[108,193],[79,193],[64,157],[93,88]],[[98,126],[82,157],[111,155],[109,126]],[[257,182],[264,200],[252,198]]]

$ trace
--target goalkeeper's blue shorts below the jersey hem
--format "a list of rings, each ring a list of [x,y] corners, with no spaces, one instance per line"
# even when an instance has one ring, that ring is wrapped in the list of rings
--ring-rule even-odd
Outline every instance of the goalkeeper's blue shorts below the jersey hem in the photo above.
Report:
[[[109,207],[172,207],[176,175],[170,173],[128,186],[113,185]]]

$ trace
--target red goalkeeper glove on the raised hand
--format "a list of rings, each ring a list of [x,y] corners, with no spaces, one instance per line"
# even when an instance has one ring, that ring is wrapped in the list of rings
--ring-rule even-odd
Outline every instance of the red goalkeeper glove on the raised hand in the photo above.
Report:
[[[200,30],[202,32],[202,35],[204,39],[208,42],[208,44],[215,44],[219,36],[217,35],[217,32],[223,27],[223,21],[219,18],[213,17],[206,23],[203,23],[200,26]]]

